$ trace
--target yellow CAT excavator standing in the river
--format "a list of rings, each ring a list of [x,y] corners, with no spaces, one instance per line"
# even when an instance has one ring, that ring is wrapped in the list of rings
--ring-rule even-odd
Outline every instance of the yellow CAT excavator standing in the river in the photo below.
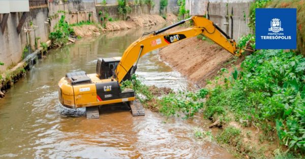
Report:
[[[193,26],[163,33],[189,20],[193,21]],[[142,105],[135,101],[134,90],[122,91],[121,82],[131,78],[137,69],[139,59],[146,53],[199,34],[210,38],[229,53],[240,56],[234,39],[212,21],[193,16],[160,30],[144,33],[125,50],[122,57],[98,59],[96,73],[86,74],[84,71],[67,73],[58,83],[60,103],[68,108],[86,107],[87,118],[99,118],[99,105],[122,102],[130,105],[132,115],[144,115]]]

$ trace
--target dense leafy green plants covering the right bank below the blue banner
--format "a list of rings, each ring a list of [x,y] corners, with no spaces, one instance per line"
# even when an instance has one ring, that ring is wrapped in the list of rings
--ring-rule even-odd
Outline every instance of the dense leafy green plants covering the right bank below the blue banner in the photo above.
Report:
[[[205,104],[206,117],[234,114],[244,126],[277,131],[281,144],[305,151],[305,58],[283,50],[260,50],[248,56],[225,86],[217,85]],[[227,86],[227,87],[226,87]],[[269,122],[276,123],[271,127]]]

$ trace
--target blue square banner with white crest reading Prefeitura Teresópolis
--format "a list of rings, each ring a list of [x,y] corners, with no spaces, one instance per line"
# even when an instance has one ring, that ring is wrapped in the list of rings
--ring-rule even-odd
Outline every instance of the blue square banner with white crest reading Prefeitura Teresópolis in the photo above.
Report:
[[[296,9],[255,9],[255,49],[296,49]]]

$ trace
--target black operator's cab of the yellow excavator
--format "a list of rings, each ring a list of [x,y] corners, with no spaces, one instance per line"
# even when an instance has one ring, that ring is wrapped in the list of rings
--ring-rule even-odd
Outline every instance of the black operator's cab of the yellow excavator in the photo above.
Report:
[[[115,69],[121,57],[99,58],[97,63],[97,74],[100,79],[115,78]]]

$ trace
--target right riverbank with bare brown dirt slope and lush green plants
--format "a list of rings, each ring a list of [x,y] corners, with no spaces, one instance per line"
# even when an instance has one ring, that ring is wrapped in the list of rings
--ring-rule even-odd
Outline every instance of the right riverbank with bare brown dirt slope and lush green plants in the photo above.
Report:
[[[211,121],[209,127],[217,129],[215,140],[236,156],[303,156],[301,53],[261,50],[246,59],[235,58],[216,44],[194,37],[165,47],[159,54],[199,88],[206,88],[164,96],[153,104],[164,115],[201,109]],[[198,100],[201,92],[208,92],[206,101]]]

